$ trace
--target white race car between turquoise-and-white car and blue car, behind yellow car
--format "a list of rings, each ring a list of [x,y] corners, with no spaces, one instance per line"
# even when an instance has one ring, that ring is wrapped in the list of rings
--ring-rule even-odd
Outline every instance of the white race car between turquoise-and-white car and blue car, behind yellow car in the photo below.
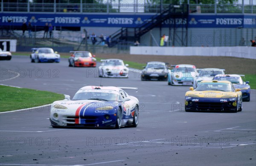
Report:
[[[193,88],[196,89],[199,83],[202,80],[212,80],[213,77],[217,74],[225,74],[225,69],[217,69],[217,68],[205,68],[205,69],[197,69],[196,77],[194,77]]]

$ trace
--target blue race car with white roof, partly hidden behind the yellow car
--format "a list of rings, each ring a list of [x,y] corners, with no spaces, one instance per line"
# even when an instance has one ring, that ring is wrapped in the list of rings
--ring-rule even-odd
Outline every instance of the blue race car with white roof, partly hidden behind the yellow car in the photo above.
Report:
[[[238,74],[218,74],[215,75],[213,80],[228,80],[233,83],[236,89],[241,89],[243,101],[250,101],[250,85],[249,81],[244,82],[241,78],[244,75]]]

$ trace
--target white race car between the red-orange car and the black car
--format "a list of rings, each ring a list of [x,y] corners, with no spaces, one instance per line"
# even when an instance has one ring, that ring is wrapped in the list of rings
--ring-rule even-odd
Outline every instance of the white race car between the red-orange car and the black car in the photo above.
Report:
[[[120,59],[101,60],[102,65],[99,66],[99,77],[115,77],[128,78],[128,64],[124,64]]]

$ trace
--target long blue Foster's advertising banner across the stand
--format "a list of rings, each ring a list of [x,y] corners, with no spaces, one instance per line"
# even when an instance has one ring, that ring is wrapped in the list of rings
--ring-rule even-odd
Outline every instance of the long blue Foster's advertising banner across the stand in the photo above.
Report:
[[[148,22],[154,23],[152,14],[31,14],[31,13],[2,13],[0,24],[3,26],[21,26],[31,22],[32,25],[69,27],[140,27]],[[153,18],[152,18],[153,17]],[[188,28],[256,28],[256,15],[253,14],[190,14],[188,18],[170,18],[162,23],[162,27],[175,25]]]

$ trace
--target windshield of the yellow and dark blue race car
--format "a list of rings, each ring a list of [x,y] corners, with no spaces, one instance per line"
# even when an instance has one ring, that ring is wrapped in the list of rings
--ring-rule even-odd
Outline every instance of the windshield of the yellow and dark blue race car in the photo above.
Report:
[[[200,83],[196,91],[223,91],[230,92],[232,87],[229,83]]]

